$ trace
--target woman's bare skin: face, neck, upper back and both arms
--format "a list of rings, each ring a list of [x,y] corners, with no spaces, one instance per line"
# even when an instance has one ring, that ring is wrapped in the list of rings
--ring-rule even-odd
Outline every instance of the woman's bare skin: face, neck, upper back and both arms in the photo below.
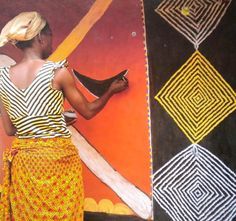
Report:
[[[36,77],[36,73],[45,63],[45,59],[52,52],[52,33],[49,30],[44,34],[37,35],[32,43],[32,47],[22,50],[23,59],[10,68],[10,79],[19,89],[27,88]],[[56,70],[52,82],[53,88],[61,90],[64,97],[71,106],[79,112],[85,119],[91,119],[100,112],[113,94],[119,93],[128,88],[127,79],[115,80],[107,92],[100,98],[89,102],[76,87],[75,79],[67,68]],[[6,109],[0,101],[0,111],[4,129],[9,136],[14,136],[16,128],[12,124]]]

